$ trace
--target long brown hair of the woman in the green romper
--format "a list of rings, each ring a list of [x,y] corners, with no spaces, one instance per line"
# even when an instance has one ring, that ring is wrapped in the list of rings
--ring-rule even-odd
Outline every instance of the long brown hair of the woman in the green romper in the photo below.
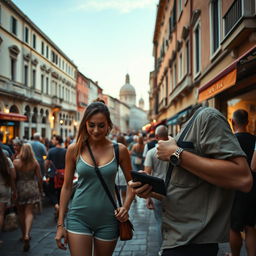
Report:
[[[110,130],[113,127],[113,123],[110,119],[110,112],[108,107],[105,105],[103,100],[97,99],[95,102],[92,102],[85,110],[84,116],[79,126],[77,140],[76,140],[76,158],[82,153],[82,150],[85,146],[85,141],[88,139],[88,131],[86,128],[86,122],[95,114],[103,114],[108,122]],[[109,131],[110,132],[110,131]]]

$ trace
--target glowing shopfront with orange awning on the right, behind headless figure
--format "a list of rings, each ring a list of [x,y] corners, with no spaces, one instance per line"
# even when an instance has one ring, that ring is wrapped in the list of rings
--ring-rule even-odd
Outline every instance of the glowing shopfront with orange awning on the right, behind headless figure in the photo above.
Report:
[[[237,109],[249,113],[249,132],[256,134],[256,46],[199,88],[199,102],[219,109],[231,124]]]

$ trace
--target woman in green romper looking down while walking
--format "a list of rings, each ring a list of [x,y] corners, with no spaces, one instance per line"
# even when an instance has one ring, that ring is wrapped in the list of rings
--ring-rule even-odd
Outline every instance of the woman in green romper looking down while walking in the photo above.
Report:
[[[68,242],[71,256],[112,255],[119,236],[118,221],[124,222],[128,219],[134,194],[129,189],[123,206],[115,211],[96,174],[89,151],[90,147],[114,198],[118,163],[113,142],[107,138],[112,126],[107,106],[99,101],[91,103],[84,112],[76,142],[67,150],[55,239],[60,249],[66,249],[63,238],[64,242]],[[120,166],[126,180],[131,180],[130,155],[124,145],[118,144],[118,147]],[[70,202],[64,227],[64,215],[72,194],[75,170],[78,173],[78,186]]]

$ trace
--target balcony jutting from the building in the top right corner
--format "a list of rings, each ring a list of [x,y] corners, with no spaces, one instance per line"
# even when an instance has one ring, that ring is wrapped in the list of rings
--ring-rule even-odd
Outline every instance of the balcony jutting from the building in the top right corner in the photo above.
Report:
[[[224,15],[223,47],[234,48],[256,30],[255,0],[236,0]]]

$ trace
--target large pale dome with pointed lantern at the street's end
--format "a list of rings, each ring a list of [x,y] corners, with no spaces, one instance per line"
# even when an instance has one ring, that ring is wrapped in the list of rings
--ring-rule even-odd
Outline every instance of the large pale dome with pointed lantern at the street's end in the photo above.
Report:
[[[136,105],[136,91],[130,84],[129,74],[125,76],[125,84],[120,89],[119,98],[129,106]]]

